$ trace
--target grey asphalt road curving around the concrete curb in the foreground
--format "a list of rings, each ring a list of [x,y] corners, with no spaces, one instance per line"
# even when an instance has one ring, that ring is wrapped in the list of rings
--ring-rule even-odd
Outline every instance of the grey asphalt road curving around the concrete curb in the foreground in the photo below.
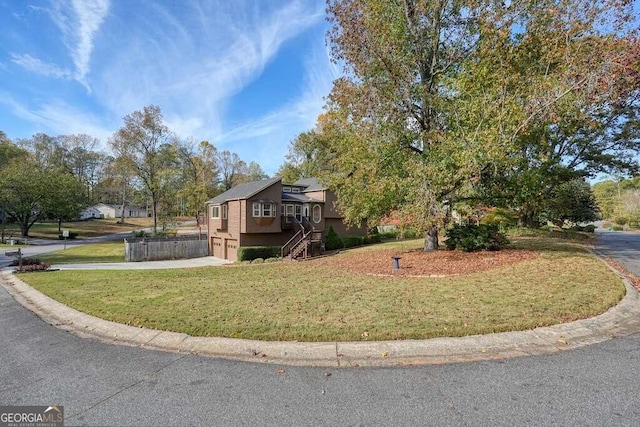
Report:
[[[638,238],[630,236],[632,245]],[[631,259],[640,255],[620,250]],[[66,425],[609,426],[640,420],[640,335],[505,361],[281,368],[81,339],[44,323],[0,289],[0,342],[0,404],[63,405]]]

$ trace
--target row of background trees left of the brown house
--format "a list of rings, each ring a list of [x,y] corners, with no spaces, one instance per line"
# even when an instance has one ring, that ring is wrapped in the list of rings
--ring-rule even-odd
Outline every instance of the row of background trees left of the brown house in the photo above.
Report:
[[[108,147],[90,135],[38,133],[12,141],[0,131],[3,224],[14,221],[28,236],[37,221],[56,220],[60,228],[102,202],[121,206],[123,215],[125,206],[147,206],[157,231],[169,218],[198,219],[208,199],[234,185],[267,178],[258,163],[236,153],[179,139],[153,105],[125,116]]]

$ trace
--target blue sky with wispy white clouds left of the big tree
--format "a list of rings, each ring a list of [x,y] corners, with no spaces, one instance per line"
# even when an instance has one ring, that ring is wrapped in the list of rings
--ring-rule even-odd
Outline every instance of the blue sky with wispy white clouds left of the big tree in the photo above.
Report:
[[[322,0],[0,0],[0,130],[108,140],[162,110],[273,175],[340,70]]]

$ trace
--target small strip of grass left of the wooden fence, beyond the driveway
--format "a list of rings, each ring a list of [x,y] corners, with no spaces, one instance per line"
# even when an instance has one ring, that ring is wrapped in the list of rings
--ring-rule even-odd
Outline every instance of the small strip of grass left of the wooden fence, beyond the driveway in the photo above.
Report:
[[[42,262],[49,264],[90,264],[96,262],[124,262],[124,243],[105,242],[72,246],[60,251],[38,255]]]

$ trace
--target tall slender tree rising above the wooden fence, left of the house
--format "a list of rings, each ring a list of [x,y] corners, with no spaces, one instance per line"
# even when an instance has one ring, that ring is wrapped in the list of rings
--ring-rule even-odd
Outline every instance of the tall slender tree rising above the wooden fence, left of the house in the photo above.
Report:
[[[153,230],[158,230],[158,203],[177,158],[175,136],[155,105],[124,117],[124,126],[111,139],[114,152],[140,179],[151,197]]]

